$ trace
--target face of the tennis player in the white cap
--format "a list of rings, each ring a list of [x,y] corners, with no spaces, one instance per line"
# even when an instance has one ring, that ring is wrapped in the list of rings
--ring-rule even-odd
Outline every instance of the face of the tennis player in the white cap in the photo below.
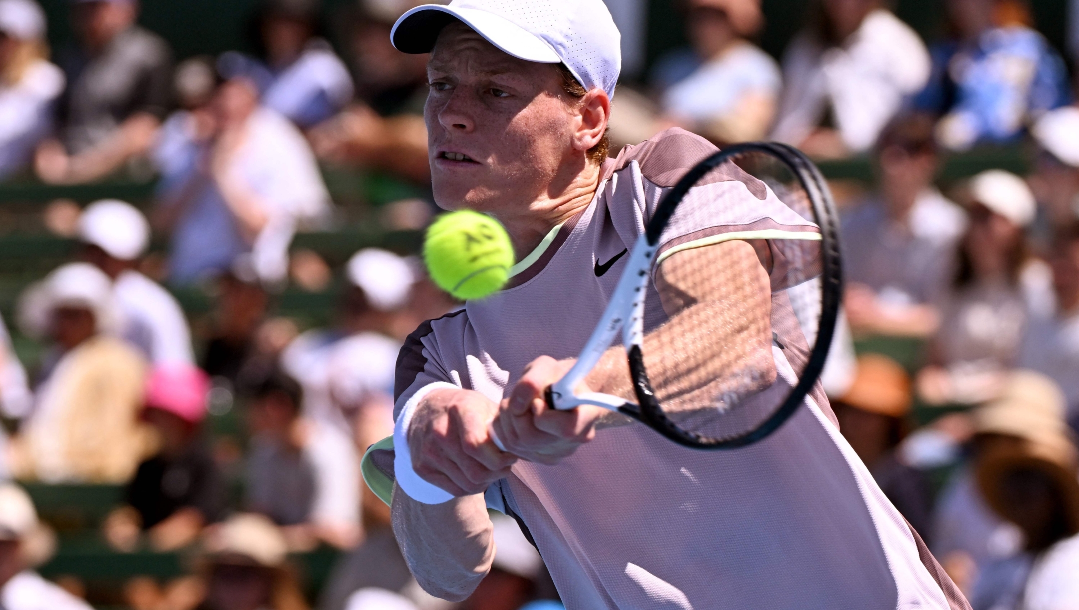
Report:
[[[435,201],[496,216],[528,208],[573,153],[574,109],[555,66],[447,26],[427,65],[424,108]]]

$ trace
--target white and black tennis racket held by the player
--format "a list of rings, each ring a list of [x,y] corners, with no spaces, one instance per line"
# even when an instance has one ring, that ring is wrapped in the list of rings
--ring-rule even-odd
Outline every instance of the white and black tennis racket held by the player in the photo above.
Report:
[[[693,215],[712,218],[730,206],[751,206],[767,218],[745,231],[679,235]],[[694,448],[733,449],[766,438],[807,396],[823,399],[817,381],[842,295],[837,232],[828,186],[796,149],[750,143],[701,161],[659,201],[576,364],[547,389],[548,405],[598,405]],[[752,244],[759,257],[752,265],[724,260],[728,241]],[[686,297],[718,282],[733,290],[760,286],[763,273],[766,289],[723,307]],[[769,295],[764,302],[749,302],[761,293]],[[576,394],[604,355],[611,357],[619,331],[636,401]]]

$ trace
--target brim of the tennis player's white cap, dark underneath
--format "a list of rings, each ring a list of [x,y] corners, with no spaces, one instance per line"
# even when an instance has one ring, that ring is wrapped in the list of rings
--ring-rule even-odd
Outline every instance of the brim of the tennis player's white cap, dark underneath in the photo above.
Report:
[[[416,6],[397,19],[390,32],[390,40],[401,53],[431,53],[439,32],[454,19],[475,30],[507,55],[538,64],[562,63],[562,58],[545,40],[513,22],[477,9],[440,4]]]

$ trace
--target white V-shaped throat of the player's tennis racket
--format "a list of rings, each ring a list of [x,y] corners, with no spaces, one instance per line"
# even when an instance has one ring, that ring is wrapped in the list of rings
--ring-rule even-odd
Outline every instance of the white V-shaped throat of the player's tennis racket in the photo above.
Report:
[[[600,362],[603,354],[622,330],[623,344],[628,352],[644,341],[644,295],[652,279],[652,265],[656,260],[656,246],[650,245],[642,234],[626,260],[626,269],[600,318],[592,336],[581,352],[573,368],[551,385],[551,398],[558,409],[572,409],[581,405],[595,405],[617,411],[627,404],[625,398],[600,392],[575,394],[574,389]]]

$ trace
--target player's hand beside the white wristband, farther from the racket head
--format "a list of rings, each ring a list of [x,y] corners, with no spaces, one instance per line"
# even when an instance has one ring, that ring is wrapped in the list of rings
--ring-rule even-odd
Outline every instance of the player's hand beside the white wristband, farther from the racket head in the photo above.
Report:
[[[472,390],[435,390],[416,407],[408,429],[412,470],[453,496],[483,492],[509,474],[517,458],[491,442],[498,406]]]

